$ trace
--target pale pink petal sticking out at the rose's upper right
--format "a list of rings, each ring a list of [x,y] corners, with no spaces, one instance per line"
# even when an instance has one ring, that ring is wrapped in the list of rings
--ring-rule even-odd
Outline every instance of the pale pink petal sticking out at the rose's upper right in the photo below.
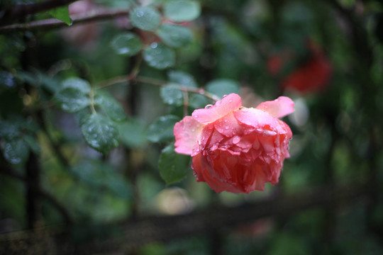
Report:
[[[282,118],[294,112],[294,102],[287,96],[279,96],[274,101],[260,103],[257,109],[270,113],[274,118]]]

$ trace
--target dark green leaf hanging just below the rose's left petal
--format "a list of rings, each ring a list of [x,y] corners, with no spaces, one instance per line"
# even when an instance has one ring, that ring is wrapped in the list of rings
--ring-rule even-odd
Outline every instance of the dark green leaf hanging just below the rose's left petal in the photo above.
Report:
[[[174,152],[174,145],[162,149],[158,169],[167,185],[181,181],[187,175],[190,157]]]

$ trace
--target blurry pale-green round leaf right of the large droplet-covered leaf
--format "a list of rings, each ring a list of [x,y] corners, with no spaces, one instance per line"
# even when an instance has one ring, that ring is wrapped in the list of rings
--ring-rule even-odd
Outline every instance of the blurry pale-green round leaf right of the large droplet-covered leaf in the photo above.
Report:
[[[119,124],[118,130],[124,145],[131,148],[143,147],[145,145],[146,130],[137,120],[128,120]]]

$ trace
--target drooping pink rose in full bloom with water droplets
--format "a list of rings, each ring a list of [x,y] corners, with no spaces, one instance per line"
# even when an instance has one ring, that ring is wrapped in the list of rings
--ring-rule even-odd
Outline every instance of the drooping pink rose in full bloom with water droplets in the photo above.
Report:
[[[197,181],[216,192],[263,191],[276,184],[292,131],[278,118],[294,112],[285,96],[242,106],[240,96],[224,96],[210,108],[197,109],[174,125],[175,152],[193,157]]]

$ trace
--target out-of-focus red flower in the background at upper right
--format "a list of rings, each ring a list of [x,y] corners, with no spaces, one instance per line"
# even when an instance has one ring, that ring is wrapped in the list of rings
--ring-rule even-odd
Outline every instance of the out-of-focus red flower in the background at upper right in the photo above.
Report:
[[[283,89],[299,91],[301,93],[323,90],[331,77],[331,64],[321,49],[309,41],[306,45],[309,57],[287,76],[282,78]],[[287,54],[274,55],[267,61],[267,69],[272,75],[279,75],[282,67],[292,60]]]

